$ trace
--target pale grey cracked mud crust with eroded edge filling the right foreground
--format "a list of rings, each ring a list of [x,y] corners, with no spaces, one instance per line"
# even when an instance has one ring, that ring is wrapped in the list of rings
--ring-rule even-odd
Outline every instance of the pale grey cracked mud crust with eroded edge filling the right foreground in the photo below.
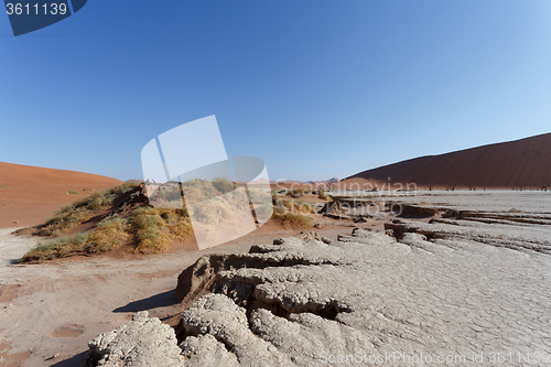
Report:
[[[159,366],[136,357],[159,350],[165,366],[407,366],[422,355],[415,366],[544,365],[526,357],[551,356],[550,226],[446,218],[388,229],[205,256],[179,278],[187,309],[175,328],[156,322],[143,338],[132,321],[90,342],[91,355],[112,366]],[[498,355],[511,358],[494,364]]]

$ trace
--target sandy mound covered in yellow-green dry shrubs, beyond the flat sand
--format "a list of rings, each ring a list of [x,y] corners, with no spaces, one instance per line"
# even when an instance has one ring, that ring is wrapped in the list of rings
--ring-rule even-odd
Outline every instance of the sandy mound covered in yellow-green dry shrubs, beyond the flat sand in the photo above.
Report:
[[[41,241],[26,252],[21,262],[40,263],[56,258],[106,252],[154,253],[162,252],[173,245],[198,249],[198,240],[194,240],[198,230],[216,228],[218,233],[226,234],[226,229],[231,230],[236,223],[239,224],[235,209],[250,213],[252,208],[251,203],[242,204],[240,198],[234,195],[238,190],[231,190],[222,196],[223,193],[216,188],[218,183],[184,183],[184,186],[192,185],[191,187],[198,192],[195,196],[202,199],[201,205],[191,208],[182,202],[180,186],[176,185],[174,190],[173,183],[160,185],[150,197],[145,184],[136,182],[93,192],[64,206],[45,223],[17,230],[18,235],[47,237],[47,240]],[[227,184],[234,187],[231,182],[228,181]],[[206,199],[201,196],[203,194],[213,197]],[[238,199],[233,202],[235,197]],[[159,207],[155,203],[162,205]],[[193,204],[193,201],[187,203]],[[272,222],[280,229],[314,225],[312,218],[301,214],[316,216],[312,204],[290,201],[285,203],[292,207],[287,208],[279,206],[279,202],[273,203],[277,213]],[[263,204],[263,206],[271,205]],[[255,213],[258,216],[260,212]],[[271,214],[270,207],[268,215]],[[195,223],[192,227],[193,220]],[[320,227],[321,225],[317,226]],[[203,231],[203,236],[205,233]]]

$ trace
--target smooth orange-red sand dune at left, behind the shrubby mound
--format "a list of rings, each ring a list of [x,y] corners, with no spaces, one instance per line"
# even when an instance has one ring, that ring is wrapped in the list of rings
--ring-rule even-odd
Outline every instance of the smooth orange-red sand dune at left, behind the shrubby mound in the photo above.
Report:
[[[120,183],[90,173],[0,162],[0,228],[44,223],[62,206],[88,195],[88,190]],[[69,191],[80,195],[67,194]]]

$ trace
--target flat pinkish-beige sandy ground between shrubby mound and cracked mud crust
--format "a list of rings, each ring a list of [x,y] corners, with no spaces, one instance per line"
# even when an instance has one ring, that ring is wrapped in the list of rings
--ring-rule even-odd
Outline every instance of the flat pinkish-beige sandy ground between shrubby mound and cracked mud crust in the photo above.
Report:
[[[372,224],[374,226],[379,224]],[[318,230],[336,239],[350,224]],[[173,301],[179,273],[207,253],[248,251],[299,230],[257,230],[203,251],[175,249],[155,256],[68,258],[14,265],[36,245],[34,237],[0,229],[0,365],[80,366],[87,343],[121,325],[138,311],[163,317],[180,310]]]

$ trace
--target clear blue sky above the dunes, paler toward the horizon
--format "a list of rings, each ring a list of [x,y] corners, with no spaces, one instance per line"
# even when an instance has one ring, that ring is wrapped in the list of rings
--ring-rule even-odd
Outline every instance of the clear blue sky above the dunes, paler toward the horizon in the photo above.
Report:
[[[0,52],[0,161],[121,180],[209,115],[271,179],[551,131],[548,0],[90,0]]]

